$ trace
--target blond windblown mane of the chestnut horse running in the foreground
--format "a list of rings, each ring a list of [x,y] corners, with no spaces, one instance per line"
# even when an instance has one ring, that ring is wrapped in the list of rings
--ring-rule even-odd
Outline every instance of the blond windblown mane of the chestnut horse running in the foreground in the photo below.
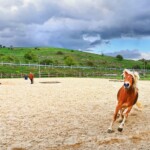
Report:
[[[137,82],[140,79],[140,76],[139,76],[138,72],[136,72],[136,71],[130,71],[128,69],[124,69],[124,71],[123,71],[123,77],[125,77],[125,72],[127,72],[130,75],[132,75],[132,77],[134,79],[133,86],[134,86],[134,88],[136,88],[137,87]]]

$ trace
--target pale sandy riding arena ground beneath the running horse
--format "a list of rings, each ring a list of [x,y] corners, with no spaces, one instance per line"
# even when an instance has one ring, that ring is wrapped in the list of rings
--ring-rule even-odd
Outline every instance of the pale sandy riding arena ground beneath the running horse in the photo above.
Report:
[[[0,79],[0,150],[149,150],[150,81],[123,132],[107,133],[122,82],[90,78]]]

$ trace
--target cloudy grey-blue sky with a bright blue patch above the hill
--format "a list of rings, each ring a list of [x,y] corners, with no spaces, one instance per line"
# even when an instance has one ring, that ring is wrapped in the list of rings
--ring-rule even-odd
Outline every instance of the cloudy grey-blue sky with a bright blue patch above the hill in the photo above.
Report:
[[[150,0],[0,0],[0,44],[150,59]]]

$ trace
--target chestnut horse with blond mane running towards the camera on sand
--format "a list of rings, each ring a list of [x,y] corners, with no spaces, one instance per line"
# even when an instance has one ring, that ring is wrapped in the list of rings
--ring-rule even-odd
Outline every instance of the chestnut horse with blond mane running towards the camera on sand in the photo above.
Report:
[[[120,126],[118,127],[118,131],[121,132],[123,130],[123,126],[128,117],[128,113],[131,111],[133,105],[137,102],[138,99],[138,88],[137,88],[137,81],[139,79],[138,73],[131,72],[125,69],[123,71],[123,77],[124,77],[124,84],[119,89],[117,94],[118,103],[113,116],[113,121],[111,122],[110,127],[108,128],[108,133],[113,132],[112,126],[117,119],[119,111],[122,120]]]

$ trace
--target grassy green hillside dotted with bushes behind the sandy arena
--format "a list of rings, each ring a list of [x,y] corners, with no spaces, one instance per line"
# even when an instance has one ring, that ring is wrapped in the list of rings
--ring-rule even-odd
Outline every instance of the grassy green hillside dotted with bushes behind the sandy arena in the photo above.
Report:
[[[32,71],[36,76],[89,76],[89,77],[120,77],[124,68],[150,69],[147,61],[121,60],[117,57],[92,54],[61,48],[0,48],[1,77],[20,77]],[[5,64],[12,63],[12,64]],[[29,64],[14,66],[13,64]],[[35,65],[32,65],[35,64]],[[37,66],[36,66],[37,64]],[[38,64],[43,66],[38,66]],[[67,67],[70,66],[70,67]],[[147,72],[146,76],[149,74]],[[144,76],[145,77],[145,76]]]

